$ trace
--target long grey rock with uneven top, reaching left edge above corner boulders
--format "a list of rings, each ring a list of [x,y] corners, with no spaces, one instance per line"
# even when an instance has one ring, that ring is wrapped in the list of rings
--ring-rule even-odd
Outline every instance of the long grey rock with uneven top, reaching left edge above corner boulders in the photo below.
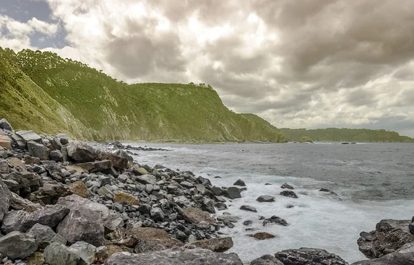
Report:
[[[37,223],[55,228],[68,213],[69,208],[61,205],[50,206],[33,213],[13,210],[4,216],[1,231],[6,234],[12,231],[26,232]]]

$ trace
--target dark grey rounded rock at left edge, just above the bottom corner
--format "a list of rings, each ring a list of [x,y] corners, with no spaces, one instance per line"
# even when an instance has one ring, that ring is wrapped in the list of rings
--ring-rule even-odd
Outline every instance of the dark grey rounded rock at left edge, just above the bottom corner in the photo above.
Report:
[[[37,250],[34,236],[14,231],[0,237],[0,254],[9,259],[25,259]]]

